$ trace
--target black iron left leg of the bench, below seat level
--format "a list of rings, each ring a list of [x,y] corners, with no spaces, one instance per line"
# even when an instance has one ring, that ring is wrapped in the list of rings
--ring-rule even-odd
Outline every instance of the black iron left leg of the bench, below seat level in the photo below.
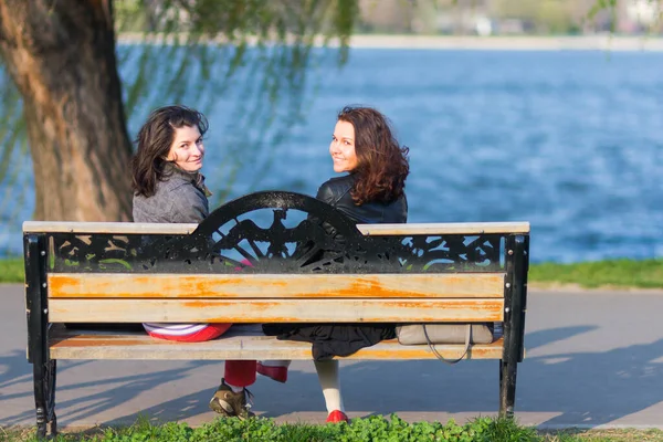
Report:
[[[36,409],[36,435],[46,436],[46,428],[50,435],[57,434],[57,418],[55,415],[55,360],[45,364],[34,364],[34,407]]]

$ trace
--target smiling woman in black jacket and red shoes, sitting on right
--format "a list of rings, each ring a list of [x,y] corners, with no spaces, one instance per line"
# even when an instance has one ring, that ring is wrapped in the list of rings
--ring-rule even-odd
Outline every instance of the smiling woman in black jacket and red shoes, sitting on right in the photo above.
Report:
[[[360,224],[404,223],[408,221],[406,178],[410,171],[407,147],[401,147],[392,134],[389,120],[370,107],[345,107],[337,117],[329,154],[334,171],[347,172],[343,177],[325,181],[317,192],[317,199],[337,208]],[[352,336],[352,325],[333,325],[328,336],[340,339]],[[302,327],[294,332],[298,338],[315,336],[320,327]],[[357,327],[358,328],[358,327]],[[382,338],[392,337],[393,327],[361,326],[356,335],[367,336],[362,346],[377,344]],[[293,332],[291,332],[293,333]],[[299,340],[299,339],[297,339]],[[338,360],[329,360],[336,352],[347,356],[356,351],[357,341],[326,341],[330,348],[327,355],[315,357],[323,394],[327,406],[327,422],[347,421],[338,376]],[[355,346],[355,347],[354,347]],[[314,344],[315,347],[315,344]],[[320,360],[327,359],[327,360]]]

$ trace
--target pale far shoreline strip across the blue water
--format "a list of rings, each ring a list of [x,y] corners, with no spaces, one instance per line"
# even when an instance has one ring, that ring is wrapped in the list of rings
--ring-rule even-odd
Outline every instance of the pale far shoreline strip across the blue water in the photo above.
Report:
[[[144,35],[140,33],[117,34],[118,44],[159,43],[172,44],[176,35]],[[186,34],[177,35],[180,41]],[[256,39],[249,38],[249,44]],[[220,38],[210,43],[223,43]],[[315,39],[315,46],[323,46],[324,39]],[[328,43],[338,48],[338,40]],[[350,49],[371,50],[440,50],[440,51],[604,51],[604,52],[663,52],[663,38],[654,35],[397,35],[355,34],[350,36]]]

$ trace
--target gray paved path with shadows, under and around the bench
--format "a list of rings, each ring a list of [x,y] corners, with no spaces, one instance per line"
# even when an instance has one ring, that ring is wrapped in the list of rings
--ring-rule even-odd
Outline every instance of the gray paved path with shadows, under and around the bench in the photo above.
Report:
[[[25,360],[22,287],[0,285],[0,425],[34,424],[32,367]],[[663,428],[663,292],[530,291],[527,358],[519,365],[516,414],[541,428]],[[496,414],[497,362],[345,362],[348,414],[397,412],[409,421]],[[214,414],[207,403],[221,362],[62,361],[57,417],[70,428],[131,423],[140,413],[191,425]],[[260,378],[259,414],[323,422],[313,362],[294,362],[286,385]]]

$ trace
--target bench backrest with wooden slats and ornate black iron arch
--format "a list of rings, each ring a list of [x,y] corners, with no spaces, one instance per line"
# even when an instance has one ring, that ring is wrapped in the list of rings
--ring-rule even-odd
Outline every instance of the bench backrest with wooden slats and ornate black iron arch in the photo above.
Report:
[[[354,230],[319,202],[246,206],[249,197],[200,225],[25,222],[27,278],[45,283],[32,302],[42,297],[51,323],[501,322],[513,307],[524,314],[527,222]],[[273,212],[263,227],[246,218],[256,207]],[[288,209],[306,209],[306,218],[286,225]]]

